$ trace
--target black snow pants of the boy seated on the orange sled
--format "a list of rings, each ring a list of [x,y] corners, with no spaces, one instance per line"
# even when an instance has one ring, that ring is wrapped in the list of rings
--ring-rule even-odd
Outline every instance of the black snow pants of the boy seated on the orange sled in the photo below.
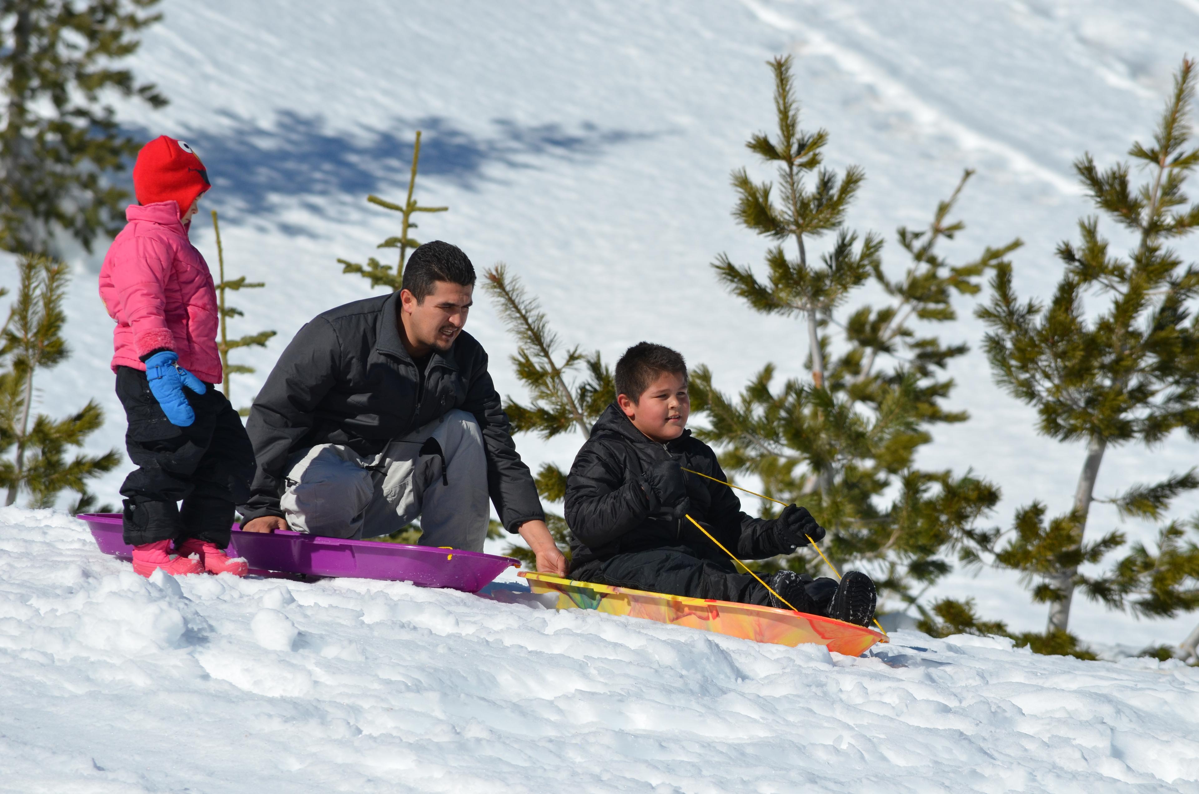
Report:
[[[733,560],[703,559],[686,546],[625,552],[607,560],[592,560],[571,571],[571,578],[689,598],[773,606],[770,591],[748,573],[737,572]],[[819,614],[825,614],[837,583],[820,578],[809,581],[805,590],[815,601]]]

